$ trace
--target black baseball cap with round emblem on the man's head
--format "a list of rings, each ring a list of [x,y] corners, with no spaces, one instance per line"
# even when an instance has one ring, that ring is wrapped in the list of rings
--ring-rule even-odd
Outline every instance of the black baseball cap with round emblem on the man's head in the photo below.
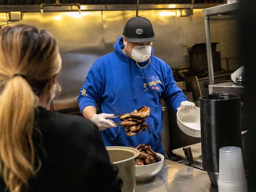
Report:
[[[151,22],[140,16],[132,17],[127,21],[122,35],[127,42],[151,42],[155,40]]]

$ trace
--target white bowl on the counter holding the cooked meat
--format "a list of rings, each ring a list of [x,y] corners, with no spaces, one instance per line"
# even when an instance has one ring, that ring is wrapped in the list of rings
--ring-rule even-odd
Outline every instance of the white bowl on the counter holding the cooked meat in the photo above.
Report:
[[[161,157],[161,161],[148,165],[135,165],[136,180],[150,179],[160,172],[165,158],[160,153],[157,154]]]

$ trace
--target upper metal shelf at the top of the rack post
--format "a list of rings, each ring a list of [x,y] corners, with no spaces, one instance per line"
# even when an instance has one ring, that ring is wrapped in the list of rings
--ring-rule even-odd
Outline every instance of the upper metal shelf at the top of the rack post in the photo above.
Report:
[[[238,10],[239,2],[210,7],[203,9],[203,18],[209,17],[209,20],[237,19]]]

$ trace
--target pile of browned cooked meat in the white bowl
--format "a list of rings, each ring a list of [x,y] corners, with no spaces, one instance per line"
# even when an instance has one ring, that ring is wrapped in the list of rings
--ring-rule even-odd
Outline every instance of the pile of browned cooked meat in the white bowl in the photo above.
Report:
[[[135,149],[139,150],[139,156],[135,159],[135,165],[147,165],[161,161],[161,158],[152,151],[150,145],[140,144]]]

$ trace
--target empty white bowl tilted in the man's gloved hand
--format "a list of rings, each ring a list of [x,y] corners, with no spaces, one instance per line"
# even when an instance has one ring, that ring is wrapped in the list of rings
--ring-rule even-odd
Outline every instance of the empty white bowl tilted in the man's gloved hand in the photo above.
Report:
[[[193,107],[189,113],[177,111],[177,124],[180,130],[192,137],[201,137],[200,108]]]

